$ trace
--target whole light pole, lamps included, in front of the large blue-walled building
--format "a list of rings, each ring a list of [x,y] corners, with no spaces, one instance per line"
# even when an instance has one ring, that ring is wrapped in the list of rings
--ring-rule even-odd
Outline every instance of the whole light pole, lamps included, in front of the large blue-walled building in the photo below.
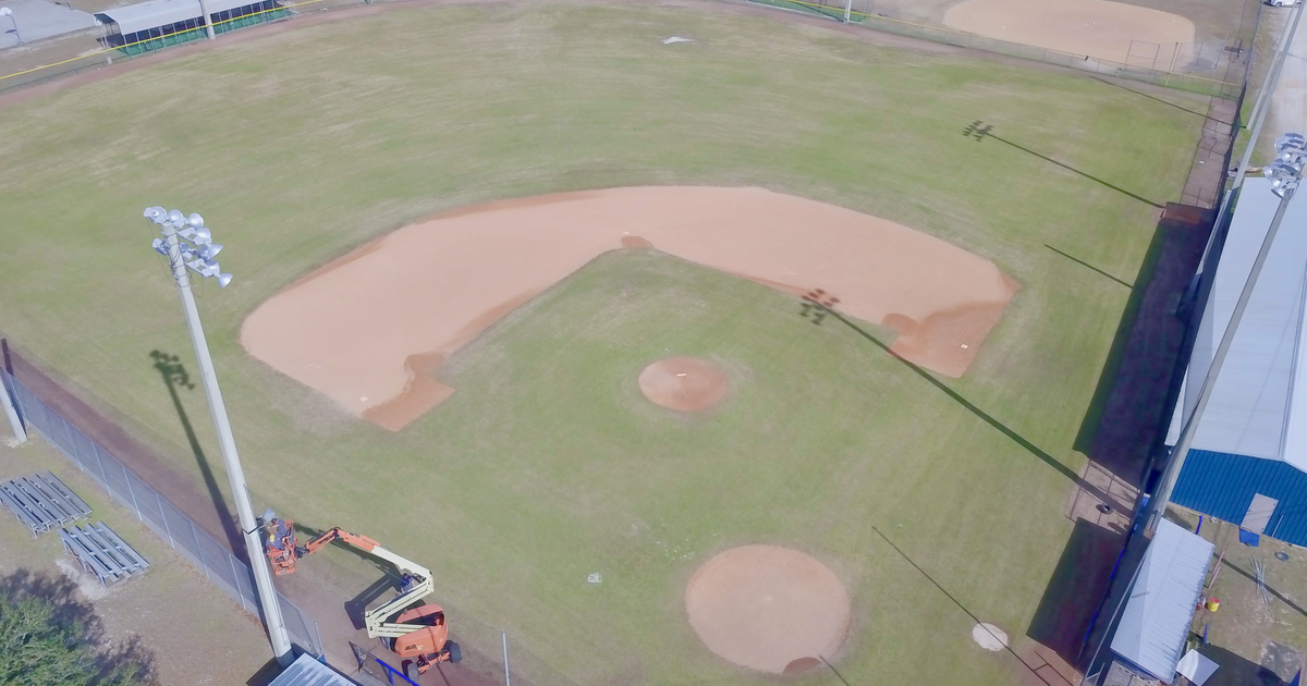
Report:
[[[1266,255],[1270,252],[1270,244],[1276,240],[1276,233],[1280,231],[1280,222],[1285,218],[1289,201],[1293,200],[1298,182],[1302,180],[1303,165],[1307,163],[1307,139],[1302,133],[1285,133],[1276,141],[1276,153],[1274,163],[1268,166],[1264,174],[1270,179],[1270,192],[1280,197],[1280,206],[1276,208],[1276,216],[1270,220],[1266,238],[1261,242],[1257,259],[1253,260],[1252,269],[1248,272],[1248,281],[1243,284],[1243,291],[1239,293],[1239,302],[1235,303],[1234,312],[1230,315],[1230,323],[1226,324],[1225,333],[1221,336],[1221,344],[1217,345],[1216,354],[1212,355],[1212,366],[1208,367],[1208,375],[1202,380],[1202,385],[1199,387],[1199,401],[1193,406],[1193,413],[1184,421],[1184,427],[1180,429],[1180,438],[1176,439],[1175,448],[1171,449],[1171,459],[1167,461],[1162,480],[1158,482],[1157,493],[1149,500],[1148,523],[1144,529],[1149,534],[1157,531],[1157,524],[1166,512],[1167,503],[1171,502],[1175,482],[1180,478],[1184,460],[1189,455],[1189,447],[1193,446],[1193,435],[1199,431],[1199,419],[1202,418],[1202,412],[1208,408],[1208,401],[1212,400],[1212,389],[1216,387],[1217,375],[1221,374],[1221,365],[1225,363],[1226,354],[1230,351],[1230,344],[1234,342],[1234,335],[1239,329],[1243,312],[1248,308],[1252,289],[1257,285],[1257,276],[1261,273],[1263,264],[1266,263]],[[1188,383],[1192,384],[1195,380],[1189,378]],[[1182,399],[1180,402],[1180,414],[1183,416],[1184,400]]]

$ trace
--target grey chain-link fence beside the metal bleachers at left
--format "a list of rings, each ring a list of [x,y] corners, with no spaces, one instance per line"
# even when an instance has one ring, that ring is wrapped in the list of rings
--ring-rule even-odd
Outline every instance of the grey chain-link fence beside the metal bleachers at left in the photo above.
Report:
[[[255,617],[260,615],[254,574],[243,561],[3,367],[0,367],[0,383],[9,388],[18,406],[18,414],[29,430],[35,429],[41,433],[78,469],[135,512],[136,519],[144,521],[159,538],[190,559],[207,579],[231,596],[246,612]],[[281,593],[277,593],[277,600],[281,602],[281,614],[295,645],[314,656],[322,656],[323,642],[318,632],[318,622]]]

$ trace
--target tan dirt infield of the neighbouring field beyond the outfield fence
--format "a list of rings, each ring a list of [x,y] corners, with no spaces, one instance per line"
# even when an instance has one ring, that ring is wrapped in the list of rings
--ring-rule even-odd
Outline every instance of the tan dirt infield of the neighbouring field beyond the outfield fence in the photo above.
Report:
[[[949,8],[950,29],[987,38],[1168,69],[1178,43],[1192,43],[1193,22],[1107,0],[966,0]],[[1133,44],[1133,51],[1132,46]]]

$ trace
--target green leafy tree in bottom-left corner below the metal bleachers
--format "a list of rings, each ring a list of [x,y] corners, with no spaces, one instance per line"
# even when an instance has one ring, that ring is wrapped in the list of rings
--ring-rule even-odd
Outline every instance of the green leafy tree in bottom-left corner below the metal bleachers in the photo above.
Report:
[[[110,640],[95,606],[82,600],[64,575],[18,568],[0,576],[0,626],[4,642],[24,645],[0,660],[0,678],[55,677],[73,670],[88,683],[156,683],[154,652],[140,636]],[[39,677],[38,677],[39,678]],[[33,681],[35,683],[35,681]]]

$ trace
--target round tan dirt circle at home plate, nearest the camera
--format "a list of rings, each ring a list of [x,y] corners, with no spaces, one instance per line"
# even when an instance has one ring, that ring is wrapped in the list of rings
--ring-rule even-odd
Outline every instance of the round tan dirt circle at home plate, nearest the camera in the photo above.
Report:
[[[774,674],[835,655],[852,619],[848,593],[825,564],[774,545],[732,547],[704,562],[685,589],[685,610],[710,651]]]

